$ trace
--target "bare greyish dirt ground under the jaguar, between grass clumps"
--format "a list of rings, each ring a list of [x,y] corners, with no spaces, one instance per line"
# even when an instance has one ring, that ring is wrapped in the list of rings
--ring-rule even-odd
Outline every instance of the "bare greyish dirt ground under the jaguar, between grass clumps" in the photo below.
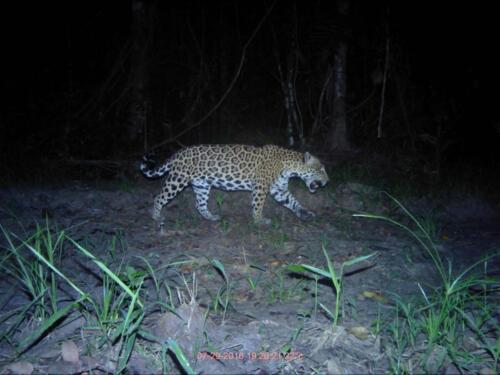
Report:
[[[265,216],[272,219],[269,226],[252,223],[248,192],[213,191],[211,210],[220,212],[223,219],[206,221],[196,212],[188,188],[163,209],[166,224],[165,232],[160,233],[150,216],[160,186],[160,181],[144,180],[4,188],[0,191],[0,223],[22,237],[48,217],[110,268],[141,268],[144,262],[138,256],[147,259],[158,279],[179,292],[174,293],[173,301],[178,315],[151,309],[145,324],[157,336],[175,338],[197,373],[385,373],[389,340],[382,331],[374,334],[375,325],[393,314],[395,294],[409,299],[419,295],[418,283],[438,282],[431,260],[408,233],[382,221],[352,217],[363,211],[409,223],[386,196],[370,187],[341,184],[310,194],[294,184],[298,200],[317,217],[302,222],[268,198]],[[500,248],[500,211],[484,200],[462,196],[415,198],[404,203],[415,214],[432,219],[429,228],[437,246],[457,270]],[[113,237],[119,241],[115,242],[116,253],[110,254],[106,248]],[[333,308],[331,284],[319,282],[315,304],[312,275],[304,277],[286,268],[298,263],[326,269],[322,247],[335,265],[376,253],[360,266],[346,269],[343,316],[335,330],[319,307],[321,303]],[[224,266],[227,280],[214,267],[214,259]],[[72,248],[61,262],[61,269],[75,282],[99,293],[102,280],[92,262]],[[498,264],[491,265],[495,266],[499,269]],[[1,282],[2,313],[26,303],[16,288],[6,284],[11,280]],[[220,305],[214,308],[214,300],[226,282],[230,292],[224,315]],[[152,283],[145,288],[153,294]],[[193,318],[189,332],[176,323],[179,316],[186,315],[198,319]],[[86,347],[84,324],[78,319],[62,324],[16,360],[12,347],[3,342],[3,372],[16,372],[8,367],[15,361],[32,366],[17,372],[111,371],[106,362],[109,353]],[[61,343],[68,340],[76,343],[81,355],[78,366],[61,358]],[[134,351],[128,372],[161,372],[158,350],[146,342],[137,345],[145,349]],[[195,350],[200,347],[204,349]],[[172,370],[176,369],[173,364]]]

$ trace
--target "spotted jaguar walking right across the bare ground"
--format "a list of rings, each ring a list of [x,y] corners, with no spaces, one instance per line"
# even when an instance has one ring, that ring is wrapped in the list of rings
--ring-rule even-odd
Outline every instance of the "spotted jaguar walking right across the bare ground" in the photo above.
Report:
[[[262,216],[268,193],[281,205],[290,209],[299,219],[310,220],[315,214],[302,207],[288,190],[290,178],[304,181],[311,193],[327,184],[325,167],[309,152],[301,153],[275,145],[197,145],[183,148],[156,166],[144,157],[140,170],[145,177],[166,175],[163,188],[154,199],[152,216],[160,222],[161,209],[186,186],[191,185],[196,196],[196,208],[205,219],[220,220],[208,209],[212,188],[252,192],[253,219],[269,224]]]

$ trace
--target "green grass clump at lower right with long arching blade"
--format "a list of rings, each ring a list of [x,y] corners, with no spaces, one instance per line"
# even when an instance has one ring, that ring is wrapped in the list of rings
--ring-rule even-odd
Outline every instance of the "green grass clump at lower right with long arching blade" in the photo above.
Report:
[[[462,372],[498,373],[500,327],[496,314],[500,303],[495,285],[500,280],[489,276],[487,269],[500,254],[493,253],[455,272],[436,246],[435,233],[430,230],[433,227],[388,196],[410,219],[411,227],[382,215],[354,216],[382,220],[409,233],[430,257],[440,278],[437,286],[417,283],[420,298],[416,301],[395,297],[395,317],[386,331],[392,340],[388,350],[391,370],[435,373],[453,365]],[[480,266],[483,272],[477,272]],[[471,346],[475,349],[473,355]]]

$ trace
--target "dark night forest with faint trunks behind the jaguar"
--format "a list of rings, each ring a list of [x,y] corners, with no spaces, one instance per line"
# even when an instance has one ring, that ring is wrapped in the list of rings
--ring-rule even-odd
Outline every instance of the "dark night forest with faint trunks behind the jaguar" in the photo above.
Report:
[[[275,143],[327,163],[347,155],[424,179],[493,180],[497,28],[485,2],[10,4],[0,172],[123,169],[185,145]]]

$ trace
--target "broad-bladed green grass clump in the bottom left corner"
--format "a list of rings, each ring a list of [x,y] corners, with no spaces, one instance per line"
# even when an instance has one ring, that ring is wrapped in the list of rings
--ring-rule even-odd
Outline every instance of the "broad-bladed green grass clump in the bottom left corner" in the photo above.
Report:
[[[64,230],[51,227],[49,222],[37,226],[34,233],[21,239],[0,225],[4,237],[4,254],[0,267],[27,297],[26,303],[0,317],[3,328],[0,340],[5,340],[20,355],[48,334],[69,316],[81,316],[85,325],[82,337],[97,354],[109,353],[106,371],[123,373],[139,338],[155,341],[144,327],[151,306],[170,306],[161,301],[148,301],[144,283],[151,279],[157,294],[160,284],[146,259],[146,270],[132,266],[112,269],[86,247],[73,240]],[[63,252],[71,247],[98,269],[100,293],[74,281],[63,269]],[[63,285],[68,288],[63,288]],[[172,302],[172,301],[170,301]],[[28,328],[28,329],[25,329]],[[19,332],[27,332],[20,334]],[[163,351],[170,352],[186,373],[194,373],[175,340],[156,340]],[[87,345],[89,349],[89,346]]]

